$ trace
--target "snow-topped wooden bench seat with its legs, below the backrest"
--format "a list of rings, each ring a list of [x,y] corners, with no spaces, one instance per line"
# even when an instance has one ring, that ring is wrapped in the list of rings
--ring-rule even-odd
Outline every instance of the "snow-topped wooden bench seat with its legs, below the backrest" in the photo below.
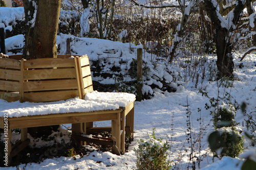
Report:
[[[100,97],[100,99],[99,99]],[[48,103],[8,103],[0,99],[0,128],[7,133],[8,155],[15,156],[29,144],[27,128],[72,124],[72,139],[83,144],[82,134],[88,133],[93,127],[87,123],[112,120],[112,140],[118,152],[124,153],[124,131],[126,116],[126,135],[133,135],[135,95],[129,93],[93,91],[85,96],[86,100],[74,98],[66,101]],[[6,115],[8,123],[5,122]],[[6,131],[8,125],[8,131]],[[19,147],[12,151],[11,130],[21,128]],[[87,130],[88,129],[88,130]],[[123,132],[123,133],[122,133]]]

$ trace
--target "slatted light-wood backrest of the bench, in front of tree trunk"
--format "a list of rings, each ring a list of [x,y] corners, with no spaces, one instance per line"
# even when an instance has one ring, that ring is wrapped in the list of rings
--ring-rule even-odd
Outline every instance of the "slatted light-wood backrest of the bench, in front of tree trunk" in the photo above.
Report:
[[[93,91],[88,56],[0,60],[0,98],[9,102],[52,102]],[[17,56],[15,56],[17,58]]]

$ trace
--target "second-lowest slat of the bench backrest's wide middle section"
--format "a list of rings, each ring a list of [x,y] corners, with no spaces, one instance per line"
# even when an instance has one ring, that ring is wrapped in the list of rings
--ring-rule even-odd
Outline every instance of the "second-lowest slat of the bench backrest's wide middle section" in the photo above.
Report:
[[[44,80],[24,82],[24,91],[78,89],[77,80]]]

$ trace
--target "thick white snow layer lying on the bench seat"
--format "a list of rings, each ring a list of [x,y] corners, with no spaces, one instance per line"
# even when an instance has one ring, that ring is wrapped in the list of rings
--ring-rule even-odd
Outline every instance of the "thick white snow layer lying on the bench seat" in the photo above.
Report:
[[[88,93],[86,100],[79,98],[69,99],[66,101],[48,102],[48,103],[8,103],[0,99],[0,117],[5,113],[8,117],[20,117],[29,115],[45,115],[55,113],[71,112],[91,112],[99,110],[116,110],[119,107],[125,107],[129,102],[135,99],[134,94],[129,93],[110,93],[97,92]]]

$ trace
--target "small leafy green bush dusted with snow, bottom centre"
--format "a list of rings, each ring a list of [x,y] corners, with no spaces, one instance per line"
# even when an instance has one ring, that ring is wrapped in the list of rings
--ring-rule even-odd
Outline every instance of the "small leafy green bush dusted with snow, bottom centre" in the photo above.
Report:
[[[155,128],[153,128],[152,135],[148,134],[146,140],[140,139],[139,148],[135,149],[136,152],[136,165],[137,169],[169,169],[170,161],[166,160],[168,154],[167,150],[170,148],[167,141],[163,142],[162,138],[156,138]]]

